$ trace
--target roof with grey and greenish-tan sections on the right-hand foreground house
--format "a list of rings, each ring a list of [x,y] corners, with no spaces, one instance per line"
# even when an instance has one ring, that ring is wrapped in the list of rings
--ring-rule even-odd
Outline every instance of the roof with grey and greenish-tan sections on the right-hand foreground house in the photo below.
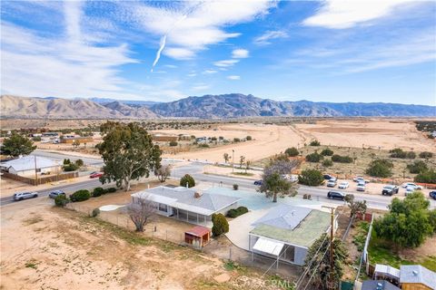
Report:
[[[311,247],[329,229],[330,214],[316,209],[282,205],[272,208],[253,225],[255,227],[250,232],[252,235]]]

